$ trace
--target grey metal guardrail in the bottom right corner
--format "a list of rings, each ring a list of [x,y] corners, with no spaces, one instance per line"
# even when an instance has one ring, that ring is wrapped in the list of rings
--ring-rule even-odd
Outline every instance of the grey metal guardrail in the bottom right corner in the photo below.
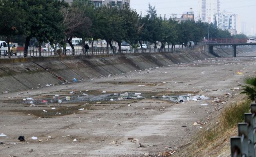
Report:
[[[231,157],[256,157],[256,99],[245,122],[238,123],[238,137],[230,139]]]

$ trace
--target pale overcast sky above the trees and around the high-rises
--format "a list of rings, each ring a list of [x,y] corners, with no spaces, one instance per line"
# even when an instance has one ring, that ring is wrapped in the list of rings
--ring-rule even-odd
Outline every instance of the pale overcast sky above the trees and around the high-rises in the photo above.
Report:
[[[169,18],[171,14],[182,14],[192,7],[197,16],[197,0],[131,0],[131,7],[140,14],[146,14],[148,3],[155,6],[157,15]],[[256,33],[256,0],[220,0],[221,11],[236,13],[241,16],[241,22],[246,22],[248,34]]]

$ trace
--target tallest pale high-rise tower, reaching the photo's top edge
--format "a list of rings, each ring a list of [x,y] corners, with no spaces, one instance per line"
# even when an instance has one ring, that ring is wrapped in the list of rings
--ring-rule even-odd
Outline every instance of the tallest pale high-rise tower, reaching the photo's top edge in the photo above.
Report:
[[[214,15],[219,11],[219,0],[198,0],[198,20],[214,23]]]

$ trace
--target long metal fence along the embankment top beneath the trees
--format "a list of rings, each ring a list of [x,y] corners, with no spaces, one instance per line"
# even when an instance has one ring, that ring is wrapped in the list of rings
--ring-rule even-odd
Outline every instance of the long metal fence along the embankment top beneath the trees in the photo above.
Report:
[[[121,49],[122,54],[128,53],[159,53],[159,52],[181,52],[194,49],[194,47],[183,47],[183,48],[173,48],[168,49]],[[0,58],[27,58],[27,57],[58,57],[58,56],[77,56],[77,55],[115,55],[120,54],[119,49],[106,49],[106,48],[97,48],[89,49],[88,51],[82,49],[75,50],[24,50],[9,52],[0,51]]]

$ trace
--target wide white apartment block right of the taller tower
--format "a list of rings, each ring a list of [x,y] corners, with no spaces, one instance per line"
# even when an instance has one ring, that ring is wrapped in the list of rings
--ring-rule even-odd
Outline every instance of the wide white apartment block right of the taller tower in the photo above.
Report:
[[[237,33],[240,33],[241,31],[238,30],[238,15],[234,13],[228,13],[228,12],[221,12],[216,13],[214,15],[214,20],[216,18],[217,21],[217,27],[222,30],[229,30],[232,35],[236,35]]]

